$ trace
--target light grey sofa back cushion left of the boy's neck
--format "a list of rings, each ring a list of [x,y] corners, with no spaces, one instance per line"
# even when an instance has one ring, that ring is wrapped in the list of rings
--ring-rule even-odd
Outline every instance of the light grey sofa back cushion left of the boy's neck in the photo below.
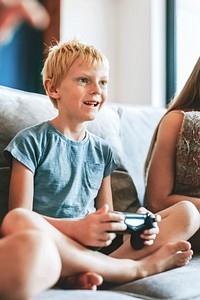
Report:
[[[0,86],[0,166],[7,166],[2,151],[19,130],[51,119],[56,113],[44,95]]]

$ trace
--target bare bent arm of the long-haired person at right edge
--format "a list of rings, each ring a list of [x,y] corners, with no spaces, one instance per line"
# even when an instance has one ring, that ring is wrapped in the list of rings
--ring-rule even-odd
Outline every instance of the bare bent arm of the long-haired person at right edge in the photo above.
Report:
[[[199,199],[172,194],[175,174],[177,138],[183,122],[183,112],[170,112],[162,120],[150,163],[146,203],[152,212],[161,211],[179,201],[189,200],[200,210]]]

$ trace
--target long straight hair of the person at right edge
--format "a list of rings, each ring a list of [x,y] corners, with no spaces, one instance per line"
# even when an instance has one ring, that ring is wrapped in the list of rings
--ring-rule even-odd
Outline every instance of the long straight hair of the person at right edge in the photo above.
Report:
[[[171,101],[169,108],[167,109],[164,116],[173,110],[188,110],[188,109],[200,110],[200,58],[198,58],[192,70],[192,73],[190,74],[188,80],[186,81],[182,91],[176,98],[174,98],[174,100]],[[157,140],[158,129],[164,116],[161,118],[160,122],[158,123],[150,143],[149,151],[144,166],[145,176],[148,173],[148,168],[151,162],[153,150]]]

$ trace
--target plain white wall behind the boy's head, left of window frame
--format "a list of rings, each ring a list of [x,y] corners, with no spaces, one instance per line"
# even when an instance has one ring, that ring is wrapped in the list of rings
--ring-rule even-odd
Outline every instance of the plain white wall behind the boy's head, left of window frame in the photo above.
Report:
[[[110,61],[109,100],[162,106],[165,0],[62,0],[61,40],[78,36]]]

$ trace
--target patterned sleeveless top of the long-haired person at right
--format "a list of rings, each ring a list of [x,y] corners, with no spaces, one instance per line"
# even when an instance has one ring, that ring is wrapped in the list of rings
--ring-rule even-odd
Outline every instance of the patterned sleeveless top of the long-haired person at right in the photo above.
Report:
[[[200,112],[184,113],[176,147],[174,193],[200,198]]]

